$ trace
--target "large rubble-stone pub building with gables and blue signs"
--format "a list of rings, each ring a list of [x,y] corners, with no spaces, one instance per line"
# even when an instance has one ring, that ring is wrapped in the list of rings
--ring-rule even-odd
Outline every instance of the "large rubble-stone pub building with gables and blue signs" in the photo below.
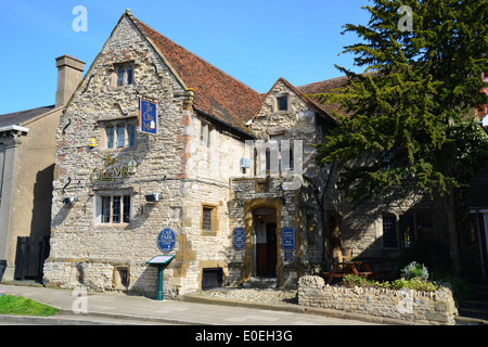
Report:
[[[44,284],[154,295],[147,261],[167,254],[168,294],[284,287],[332,258],[400,252],[441,218],[352,210],[314,165],[336,120],[306,94],[343,82],[280,78],[259,94],[127,11],[56,131]]]

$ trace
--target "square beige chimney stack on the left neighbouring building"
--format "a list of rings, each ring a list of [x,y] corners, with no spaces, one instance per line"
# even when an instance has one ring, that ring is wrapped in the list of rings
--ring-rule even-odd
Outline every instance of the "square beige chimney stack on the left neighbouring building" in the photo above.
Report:
[[[57,90],[56,107],[67,104],[81,81],[85,63],[69,55],[56,57]]]

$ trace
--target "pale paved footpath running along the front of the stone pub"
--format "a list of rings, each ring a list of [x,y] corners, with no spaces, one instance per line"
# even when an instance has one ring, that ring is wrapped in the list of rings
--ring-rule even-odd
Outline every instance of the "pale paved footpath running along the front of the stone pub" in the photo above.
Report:
[[[306,309],[293,304],[264,305],[211,299],[198,295],[183,301],[162,301],[125,294],[50,290],[46,287],[0,284],[0,291],[49,304],[60,310],[51,318],[57,323],[89,324],[90,321],[115,319],[142,324],[197,325],[378,325],[400,324],[361,316],[346,316],[321,309]],[[78,296],[80,295],[80,296]],[[81,312],[80,312],[81,311]],[[28,322],[28,318],[25,318]],[[79,322],[75,322],[78,320]]]

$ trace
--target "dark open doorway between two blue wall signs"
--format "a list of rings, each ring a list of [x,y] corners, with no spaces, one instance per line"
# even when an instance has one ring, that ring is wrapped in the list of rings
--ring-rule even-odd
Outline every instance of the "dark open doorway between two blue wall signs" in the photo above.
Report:
[[[253,211],[254,275],[277,277],[277,210],[264,207]]]

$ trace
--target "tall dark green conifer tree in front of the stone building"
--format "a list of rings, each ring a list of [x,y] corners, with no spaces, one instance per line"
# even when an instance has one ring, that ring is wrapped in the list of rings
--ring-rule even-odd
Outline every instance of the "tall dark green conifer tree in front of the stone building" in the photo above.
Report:
[[[347,113],[335,114],[339,126],[317,145],[318,162],[338,163],[338,188],[357,205],[393,189],[444,196],[459,269],[455,190],[486,158],[473,115],[488,101],[480,78],[488,72],[488,1],[372,2],[368,25],[345,26],[361,40],[343,53],[355,54],[363,73],[337,66],[347,86],[312,95]]]

